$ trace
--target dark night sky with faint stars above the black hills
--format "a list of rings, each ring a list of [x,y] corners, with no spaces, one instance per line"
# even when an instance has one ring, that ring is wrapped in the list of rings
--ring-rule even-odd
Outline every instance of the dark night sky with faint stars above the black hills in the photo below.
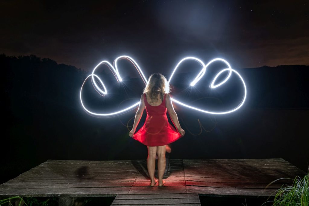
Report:
[[[0,53],[92,70],[133,57],[164,72],[186,56],[233,68],[309,65],[308,1],[1,1]]]

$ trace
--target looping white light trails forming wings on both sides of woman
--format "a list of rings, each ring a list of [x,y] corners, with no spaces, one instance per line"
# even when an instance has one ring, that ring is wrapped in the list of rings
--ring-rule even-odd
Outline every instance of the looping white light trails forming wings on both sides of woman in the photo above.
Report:
[[[120,76],[120,74],[119,74],[118,67],[117,67],[117,61],[118,61],[119,59],[126,59],[126,60],[129,60],[129,61],[134,65],[134,67],[137,69],[138,73],[140,74],[140,76],[142,77],[142,79],[143,79],[143,81],[144,81],[144,83],[145,83],[145,85],[146,85],[146,83],[147,83],[147,78],[146,78],[145,75],[143,74],[142,69],[138,66],[138,64],[136,63],[136,61],[134,61],[131,57],[129,57],[129,56],[120,56],[120,57],[117,57],[117,58],[115,59],[114,63],[113,63],[114,66],[113,66],[111,63],[109,63],[108,61],[101,61],[101,62],[93,69],[92,74],[90,74],[90,75],[85,79],[85,81],[83,82],[83,85],[82,85],[82,87],[81,87],[81,89],[80,89],[80,94],[79,94],[79,96],[80,96],[80,101],[81,101],[81,103],[82,103],[83,108],[84,108],[85,111],[87,111],[88,113],[90,113],[90,114],[92,114],[92,115],[96,115],[96,116],[112,116],[112,115],[120,114],[120,113],[125,112],[125,111],[129,111],[129,110],[131,110],[131,109],[137,107],[137,106],[140,104],[140,102],[137,102],[137,103],[133,104],[133,105],[130,106],[130,107],[126,107],[126,108],[124,108],[124,109],[122,109],[122,110],[120,110],[120,111],[114,111],[114,112],[111,112],[111,113],[95,113],[95,112],[89,111],[89,110],[84,106],[84,104],[83,104],[83,100],[82,100],[82,90],[83,90],[83,86],[84,86],[84,84],[85,84],[85,82],[87,81],[88,78],[91,78],[92,85],[95,87],[95,90],[96,90],[100,95],[105,96],[105,95],[108,93],[108,92],[107,92],[107,89],[106,89],[106,87],[105,87],[105,85],[104,85],[104,83],[102,82],[102,80],[101,80],[96,74],[94,74],[95,69],[97,69],[97,68],[99,67],[99,65],[105,64],[105,65],[112,71],[112,73],[114,74],[114,76],[115,76],[117,82],[121,82],[121,81],[122,81],[122,78],[121,78],[121,76]],[[190,83],[190,86],[194,86],[194,85],[204,76],[204,74],[206,73],[207,67],[208,67],[211,63],[213,63],[213,62],[215,62],[215,61],[222,61],[222,62],[224,62],[224,63],[227,65],[228,68],[222,69],[220,72],[218,72],[218,74],[214,77],[213,81],[211,82],[210,88],[214,89],[214,88],[216,88],[216,87],[219,87],[219,86],[223,85],[223,84],[231,77],[232,72],[234,72],[235,74],[237,74],[237,76],[240,78],[240,80],[241,80],[242,83],[243,83],[243,99],[242,99],[241,103],[239,103],[239,105],[238,105],[237,107],[235,107],[234,109],[231,109],[231,110],[227,110],[227,111],[207,111],[207,110],[203,110],[203,109],[200,109],[200,108],[197,108],[197,107],[192,107],[192,106],[190,106],[190,105],[188,105],[188,104],[185,104],[185,103],[182,103],[182,102],[180,102],[180,101],[178,101],[178,100],[176,100],[176,99],[174,99],[174,98],[171,98],[172,101],[174,101],[174,102],[176,102],[176,103],[179,103],[180,105],[182,105],[182,106],[184,106],[184,107],[188,107],[188,108],[191,108],[191,109],[194,109],[194,110],[197,110],[197,111],[201,111],[201,112],[208,113],[208,114],[215,114],[215,115],[228,114],[228,113],[231,113],[231,112],[234,112],[234,111],[238,110],[241,106],[243,106],[243,103],[245,102],[246,97],[247,97],[247,88],[246,88],[246,84],[245,84],[243,78],[240,76],[240,74],[239,74],[236,70],[232,69],[232,68],[231,68],[231,65],[230,65],[226,60],[221,59],[221,58],[213,59],[213,60],[211,60],[210,62],[208,62],[208,63],[205,65],[203,61],[201,61],[200,59],[198,59],[198,58],[196,58],[196,57],[185,57],[185,58],[183,58],[182,60],[180,60],[180,61],[178,62],[178,64],[176,65],[175,69],[173,70],[173,72],[172,72],[172,74],[171,74],[171,77],[170,77],[169,80],[168,80],[168,83],[170,83],[170,81],[171,81],[171,79],[172,79],[172,77],[173,77],[173,75],[174,75],[176,69],[177,69],[177,68],[180,66],[180,64],[181,64],[183,61],[185,61],[185,60],[194,60],[194,61],[197,61],[197,62],[200,63],[200,65],[201,65],[201,67],[202,67],[201,71],[197,74],[196,78]],[[215,84],[217,78],[218,78],[223,72],[225,72],[225,71],[228,71],[227,77],[226,77],[224,80],[222,80],[222,82],[219,82],[219,83]],[[100,85],[104,88],[104,91],[96,84],[95,78],[97,78],[97,80],[99,81]]]

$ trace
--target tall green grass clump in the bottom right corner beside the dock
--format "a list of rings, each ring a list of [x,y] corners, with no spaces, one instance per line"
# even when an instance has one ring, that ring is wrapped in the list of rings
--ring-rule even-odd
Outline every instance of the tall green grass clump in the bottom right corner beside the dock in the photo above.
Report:
[[[292,186],[283,184],[280,189],[275,191],[277,193],[274,197],[274,200],[268,201],[268,202],[273,202],[273,206],[308,206],[309,205],[308,176],[309,176],[309,167],[308,167],[308,172],[303,177],[303,179],[301,179],[299,176],[296,176],[294,180],[291,179],[293,180]],[[290,179],[290,178],[280,178],[280,179]],[[280,179],[276,179],[273,182],[269,183],[265,187],[265,189],[269,185],[271,185],[272,183]],[[285,185],[286,187],[284,187]]]

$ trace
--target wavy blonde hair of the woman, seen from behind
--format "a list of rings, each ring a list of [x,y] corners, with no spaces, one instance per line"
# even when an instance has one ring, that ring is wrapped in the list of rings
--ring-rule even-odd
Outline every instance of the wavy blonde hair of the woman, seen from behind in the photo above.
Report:
[[[146,93],[153,102],[158,99],[159,94],[163,100],[164,93],[168,94],[170,93],[170,90],[170,84],[165,76],[161,73],[154,73],[148,78],[148,82],[143,90],[143,93]]]

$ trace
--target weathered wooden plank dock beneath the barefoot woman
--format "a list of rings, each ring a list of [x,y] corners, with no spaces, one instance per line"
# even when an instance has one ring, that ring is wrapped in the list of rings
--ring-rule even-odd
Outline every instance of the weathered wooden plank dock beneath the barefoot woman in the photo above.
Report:
[[[150,204],[151,199],[162,204],[199,205],[198,195],[274,195],[284,183],[291,185],[292,180],[282,179],[264,189],[268,183],[306,174],[281,158],[170,159],[169,162],[171,173],[164,179],[166,184],[150,187],[146,159],[47,160],[1,184],[0,197],[58,196],[59,204],[72,205],[69,202],[73,197],[115,196],[113,204],[118,205]]]

